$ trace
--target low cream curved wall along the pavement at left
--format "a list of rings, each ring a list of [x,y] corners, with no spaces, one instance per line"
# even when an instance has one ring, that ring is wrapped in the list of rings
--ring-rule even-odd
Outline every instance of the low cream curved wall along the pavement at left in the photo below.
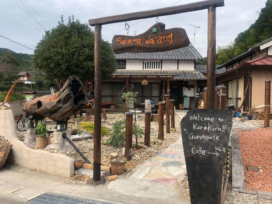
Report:
[[[13,145],[15,161],[19,165],[64,177],[71,177],[74,174],[71,157],[32,149],[18,139],[11,109],[0,109],[0,136],[4,136]]]

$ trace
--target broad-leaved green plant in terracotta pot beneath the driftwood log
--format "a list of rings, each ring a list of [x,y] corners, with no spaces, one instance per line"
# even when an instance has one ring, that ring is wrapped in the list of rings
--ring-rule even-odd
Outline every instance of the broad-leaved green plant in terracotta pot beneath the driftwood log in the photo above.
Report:
[[[48,142],[48,130],[46,129],[46,125],[44,124],[44,122],[40,121],[38,122],[34,133],[36,133],[36,142],[37,148],[45,148],[47,146],[47,142]]]

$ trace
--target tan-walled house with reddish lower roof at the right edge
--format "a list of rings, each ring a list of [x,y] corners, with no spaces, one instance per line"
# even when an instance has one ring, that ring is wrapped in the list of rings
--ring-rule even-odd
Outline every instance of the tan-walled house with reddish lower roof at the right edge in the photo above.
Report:
[[[225,71],[220,73],[223,69]],[[216,71],[219,73],[216,75],[216,85],[227,88],[228,105],[233,104],[235,108],[241,105],[249,79],[242,111],[253,105],[264,105],[265,80],[272,79],[272,38],[218,66]]]

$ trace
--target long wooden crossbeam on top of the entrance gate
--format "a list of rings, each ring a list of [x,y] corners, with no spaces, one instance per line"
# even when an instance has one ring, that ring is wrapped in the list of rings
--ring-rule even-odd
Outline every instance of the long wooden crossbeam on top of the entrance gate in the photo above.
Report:
[[[178,13],[186,13],[190,11],[198,11],[208,9],[210,6],[221,7],[224,6],[224,0],[207,0],[198,1],[190,4],[183,4],[178,6],[170,6],[153,10],[139,11],[134,13],[125,13],[116,16],[107,16],[97,19],[90,19],[89,24],[94,26],[95,24],[110,24],[125,21],[132,21],[137,19],[153,18],[158,16],[168,16]]]

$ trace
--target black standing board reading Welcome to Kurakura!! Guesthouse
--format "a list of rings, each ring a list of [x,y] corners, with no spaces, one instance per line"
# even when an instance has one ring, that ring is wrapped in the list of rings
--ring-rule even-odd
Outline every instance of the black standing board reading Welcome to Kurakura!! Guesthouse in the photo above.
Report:
[[[191,203],[221,203],[223,165],[231,128],[230,110],[193,108],[182,118]]]

